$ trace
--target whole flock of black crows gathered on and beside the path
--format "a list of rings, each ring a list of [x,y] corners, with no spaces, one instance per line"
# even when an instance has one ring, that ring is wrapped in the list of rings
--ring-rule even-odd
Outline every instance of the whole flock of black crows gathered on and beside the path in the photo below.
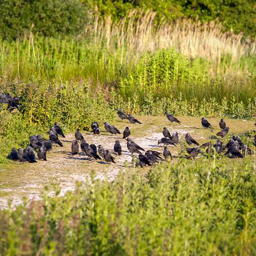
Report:
[[[19,108],[19,97],[12,98],[9,94],[0,94],[0,103],[8,104],[8,109],[12,110],[14,108]],[[139,120],[134,118],[133,115],[126,115],[120,111],[120,109],[116,109],[118,111],[119,118],[123,121],[124,119],[129,120],[130,123],[138,123],[141,124]],[[180,121],[175,118],[175,116],[170,115],[168,112],[165,112],[166,118],[172,123],[179,123]],[[202,127],[205,129],[211,129],[213,131],[212,125],[208,122],[206,118],[202,118],[201,120]],[[256,124],[255,124],[256,125]],[[111,134],[120,134],[120,131],[113,125],[108,122],[104,123],[105,130]],[[226,126],[225,120],[221,119],[219,122],[219,127],[221,131],[216,133],[216,136],[211,136],[211,139],[215,139],[216,142],[212,143],[212,140],[202,144],[201,146],[197,141],[191,137],[189,133],[186,134],[185,140],[188,145],[195,145],[195,147],[186,147],[186,150],[182,149],[182,153],[184,153],[184,157],[187,158],[196,158],[198,155],[212,155],[217,154],[227,155],[233,158],[243,158],[245,155],[253,154],[253,151],[247,147],[247,145],[243,144],[241,138],[239,136],[233,136],[226,145],[223,145],[223,142],[219,139],[219,137],[223,138],[229,132],[229,127]],[[91,133],[99,134],[101,133],[101,129],[97,122],[93,122],[91,124]],[[167,145],[174,145],[179,143],[179,133],[174,131],[172,135],[166,127],[163,127],[163,137],[158,140],[158,145],[163,144],[164,149],[163,153],[159,153],[154,150],[145,151],[140,145],[136,144],[129,136],[131,134],[129,127],[127,126],[123,131],[123,139],[127,141],[127,149],[131,152],[131,155],[134,153],[138,154],[133,155],[132,158],[132,166],[141,166],[149,165],[152,163],[157,163],[159,161],[163,161],[163,157],[167,159],[171,159],[172,155],[167,147]],[[62,136],[65,138],[63,131],[58,123],[55,123],[53,127],[48,131],[49,139],[42,138],[40,134],[37,136],[30,136],[30,145],[28,145],[25,149],[19,148],[16,150],[12,149],[10,152],[9,158],[13,160],[19,160],[21,162],[37,162],[38,159],[42,159],[44,161],[47,160],[47,152],[52,150],[53,144],[58,144],[60,147],[63,147],[61,140],[59,140],[58,136]],[[79,142],[81,151],[87,155],[88,159],[104,159],[105,162],[113,162],[115,163],[115,158],[111,155],[109,150],[105,150],[102,145],[98,145],[98,148],[95,144],[88,144],[83,137],[83,134],[80,133],[79,129],[76,130],[74,134],[75,140],[72,141],[72,155],[79,154]],[[254,144],[256,145],[256,136],[254,136]],[[113,150],[116,154],[122,155],[122,147],[120,145],[120,141],[116,140]],[[145,154],[142,152],[145,151]],[[35,157],[35,152],[37,152],[37,158]]]

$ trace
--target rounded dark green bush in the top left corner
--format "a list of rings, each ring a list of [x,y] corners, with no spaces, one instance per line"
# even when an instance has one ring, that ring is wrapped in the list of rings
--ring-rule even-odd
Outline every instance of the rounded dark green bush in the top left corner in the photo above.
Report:
[[[0,2],[0,37],[14,39],[34,33],[73,35],[83,31],[87,8],[79,0],[3,0]]]

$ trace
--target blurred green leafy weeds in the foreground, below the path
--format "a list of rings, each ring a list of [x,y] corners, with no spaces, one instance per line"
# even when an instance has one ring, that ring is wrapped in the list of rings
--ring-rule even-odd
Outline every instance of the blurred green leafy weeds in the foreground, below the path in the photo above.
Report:
[[[180,159],[0,212],[3,255],[253,255],[253,161]]]

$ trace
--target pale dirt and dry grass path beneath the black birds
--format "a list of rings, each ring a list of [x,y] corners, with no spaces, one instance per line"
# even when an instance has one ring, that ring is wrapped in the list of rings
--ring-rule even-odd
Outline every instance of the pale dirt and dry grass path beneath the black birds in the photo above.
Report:
[[[207,137],[211,135],[209,130],[201,128],[200,119],[198,118],[180,118],[182,125],[171,125],[164,117],[140,116],[143,125],[132,125],[127,122],[114,122],[113,124],[123,131],[126,126],[130,127],[131,138],[143,147],[145,150],[154,149],[159,152],[163,151],[163,147],[157,145],[157,141],[162,137],[163,126],[168,127],[170,132],[176,130],[180,133],[180,144],[184,143],[184,134],[191,133],[199,143],[207,141]],[[230,123],[234,120],[230,120]],[[217,119],[212,119],[211,123],[216,127]],[[232,126],[232,125],[230,125]],[[236,132],[253,129],[253,122],[237,120],[234,125]],[[231,128],[231,127],[230,127]],[[103,129],[102,129],[103,130]],[[216,129],[218,131],[219,129]],[[38,163],[20,163],[10,162],[8,165],[0,166],[0,208],[5,208],[8,201],[12,200],[12,205],[20,204],[22,198],[26,195],[29,200],[31,198],[40,198],[41,190],[45,186],[51,186],[52,183],[58,183],[61,186],[61,194],[67,190],[73,190],[76,182],[84,182],[90,179],[91,172],[94,170],[96,179],[115,179],[120,169],[124,166],[130,166],[131,154],[127,150],[126,140],[122,138],[122,134],[111,136],[103,132],[101,135],[93,135],[91,133],[83,133],[87,143],[95,145],[103,145],[108,149],[116,164],[109,164],[102,160],[88,160],[85,155],[73,157],[71,155],[71,144],[74,140],[74,133],[66,135],[62,142],[64,147],[54,147],[54,150],[47,154],[48,161],[39,161]],[[120,140],[123,154],[115,155],[113,145],[116,140]],[[179,147],[169,147],[172,155],[177,155]]]

